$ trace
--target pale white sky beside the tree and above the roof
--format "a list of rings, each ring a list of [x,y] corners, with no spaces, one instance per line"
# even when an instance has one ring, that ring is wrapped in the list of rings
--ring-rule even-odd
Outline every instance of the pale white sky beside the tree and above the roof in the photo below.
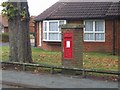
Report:
[[[0,0],[0,4],[5,0]],[[52,6],[59,0],[28,0],[29,12],[31,16],[37,16],[44,10]],[[0,6],[0,12],[2,7]]]

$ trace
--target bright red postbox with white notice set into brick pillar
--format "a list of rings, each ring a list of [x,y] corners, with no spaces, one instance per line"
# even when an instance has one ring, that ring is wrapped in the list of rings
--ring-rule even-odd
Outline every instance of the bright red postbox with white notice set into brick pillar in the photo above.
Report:
[[[72,59],[72,33],[64,34],[64,59]]]

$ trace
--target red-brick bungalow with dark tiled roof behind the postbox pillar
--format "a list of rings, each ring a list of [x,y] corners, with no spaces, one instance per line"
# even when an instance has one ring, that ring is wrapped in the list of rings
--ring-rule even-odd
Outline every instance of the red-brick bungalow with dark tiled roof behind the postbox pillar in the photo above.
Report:
[[[62,24],[84,24],[84,51],[120,51],[119,0],[60,0],[35,17],[36,46],[61,50]]]

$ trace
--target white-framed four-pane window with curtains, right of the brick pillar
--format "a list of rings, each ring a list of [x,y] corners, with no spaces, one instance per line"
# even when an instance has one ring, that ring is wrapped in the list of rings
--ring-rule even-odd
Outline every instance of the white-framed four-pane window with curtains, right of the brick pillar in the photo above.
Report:
[[[84,41],[105,41],[105,21],[85,20]]]

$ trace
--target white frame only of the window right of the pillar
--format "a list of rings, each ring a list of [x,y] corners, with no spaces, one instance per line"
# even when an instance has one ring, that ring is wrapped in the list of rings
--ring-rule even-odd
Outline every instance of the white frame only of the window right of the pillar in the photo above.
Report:
[[[105,42],[105,20],[84,20],[84,25],[85,25],[85,22],[86,21],[92,21],[93,22],[93,31],[85,31],[85,28],[84,28],[84,33],[83,33],[83,36],[84,34],[94,34],[94,38],[95,38],[95,34],[98,33],[98,34],[104,34],[104,40],[84,40],[85,42]],[[103,21],[103,31],[96,31],[95,30],[95,22],[96,21]],[[83,37],[84,39],[84,37]]]

